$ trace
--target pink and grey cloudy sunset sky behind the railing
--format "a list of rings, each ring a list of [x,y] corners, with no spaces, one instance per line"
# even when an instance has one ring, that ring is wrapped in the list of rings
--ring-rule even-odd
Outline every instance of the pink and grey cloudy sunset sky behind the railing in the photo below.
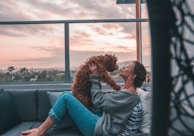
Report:
[[[142,5],[142,18],[148,18]],[[135,19],[135,5],[116,0],[0,0],[0,21]],[[143,63],[150,66],[149,23],[142,23]],[[70,66],[93,55],[136,59],[135,23],[70,24]],[[64,24],[0,25],[0,69],[63,68]]]

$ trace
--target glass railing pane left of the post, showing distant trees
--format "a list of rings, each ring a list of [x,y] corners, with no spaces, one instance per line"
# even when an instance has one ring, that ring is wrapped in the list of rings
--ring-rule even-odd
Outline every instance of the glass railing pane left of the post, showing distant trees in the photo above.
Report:
[[[0,29],[1,81],[60,79],[57,74],[64,71],[64,25],[6,25]]]

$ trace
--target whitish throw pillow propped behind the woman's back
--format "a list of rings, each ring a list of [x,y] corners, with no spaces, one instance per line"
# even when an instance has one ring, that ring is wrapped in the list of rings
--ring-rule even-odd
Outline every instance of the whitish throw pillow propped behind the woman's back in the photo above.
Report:
[[[143,121],[142,121],[142,127],[141,131],[143,133],[150,133],[151,129],[151,102],[152,102],[152,96],[150,91],[144,91],[141,88],[137,88],[137,93],[140,97],[140,101],[142,103],[143,107]]]

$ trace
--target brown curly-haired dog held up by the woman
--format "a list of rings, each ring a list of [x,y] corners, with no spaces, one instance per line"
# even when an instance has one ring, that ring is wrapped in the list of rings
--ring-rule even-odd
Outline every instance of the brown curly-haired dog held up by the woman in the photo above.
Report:
[[[92,107],[90,94],[91,82],[89,78],[91,74],[89,65],[92,63],[97,66],[98,74],[102,82],[110,85],[114,90],[121,89],[121,86],[117,85],[108,73],[118,69],[117,57],[115,55],[105,54],[88,58],[77,70],[72,84],[73,95],[87,108]]]

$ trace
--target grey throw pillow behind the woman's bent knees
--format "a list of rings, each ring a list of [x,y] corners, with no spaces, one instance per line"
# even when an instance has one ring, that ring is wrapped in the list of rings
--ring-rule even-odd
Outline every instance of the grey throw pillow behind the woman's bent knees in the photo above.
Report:
[[[63,92],[52,92],[52,91],[47,92],[51,107],[55,104],[56,100],[59,98],[59,96],[62,93]],[[59,124],[55,125],[54,127],[57,129],[64,129],[64,128],[69,128],[69,127],[74,127],[74,126],[75,126],[75,124],[74,124],[72,118],[70,117],[70,115],[68,113],[66,113],[65,116],[62,118],[61,122]]]

